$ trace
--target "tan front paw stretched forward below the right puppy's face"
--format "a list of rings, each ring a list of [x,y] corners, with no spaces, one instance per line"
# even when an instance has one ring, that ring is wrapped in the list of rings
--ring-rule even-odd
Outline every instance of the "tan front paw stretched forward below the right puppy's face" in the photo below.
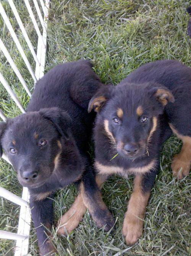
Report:
[[[142,235],[143,221],[136,218],[125,218],[123,222],[123,236],[128,245],[134,245]]]

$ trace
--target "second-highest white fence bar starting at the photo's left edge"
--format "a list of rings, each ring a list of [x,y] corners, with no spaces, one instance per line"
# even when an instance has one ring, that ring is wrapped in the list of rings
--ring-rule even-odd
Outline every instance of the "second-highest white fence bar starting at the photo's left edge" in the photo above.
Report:
[[[29,97],[31,97],[31,92],[29,91],[29,88],[27,87],[21,73],[19,72],[17,66],[15,65],[15,62],[13,61],[13,59],[11,58],[9,52],[7,51],[5,45],[3,44],[2,39],[0,38],[0,49],[2,49],[2,52],[4,53],[6,59],[8,60],[8,62],[10,63],[11,67],[13,68],[13,70],[15,71],[17,77],[19,78],[19,81],[22,83],[24,89],[26,90],[26,92],[28,93]]]

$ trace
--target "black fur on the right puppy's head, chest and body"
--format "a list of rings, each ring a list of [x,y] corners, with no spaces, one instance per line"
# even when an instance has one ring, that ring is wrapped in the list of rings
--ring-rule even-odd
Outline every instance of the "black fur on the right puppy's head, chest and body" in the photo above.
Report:
[[[98,112],[94,128],[96,163],[107,166],[107,174],[120,167],[118,173],[126,176],[131,169],[130,173],[142,175],[142,193],[150,192],[159,170],[162,144],[172,134],[169,123],[181,135],[191,136],[191,68],[176,60],[142,65],[119,85],[102,86],[89,103],[89,111],[92,108]],[[118,109],[122,110],[121,118]],[[148,121],[142,122],[146,117]],[[125,145],[136,150],[129,153]],[[149,172],[141,173],[153,160]],[[104,174],[104,168],[97,171]]]

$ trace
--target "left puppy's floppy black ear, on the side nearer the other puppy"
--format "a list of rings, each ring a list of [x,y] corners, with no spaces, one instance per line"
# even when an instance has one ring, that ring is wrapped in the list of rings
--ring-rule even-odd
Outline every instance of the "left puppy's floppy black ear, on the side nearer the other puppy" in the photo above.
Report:
[[[42,108],[39,113],[57,128],[58,132],[69,139],[69,128],[71,126],[71,117],[60,108]]]

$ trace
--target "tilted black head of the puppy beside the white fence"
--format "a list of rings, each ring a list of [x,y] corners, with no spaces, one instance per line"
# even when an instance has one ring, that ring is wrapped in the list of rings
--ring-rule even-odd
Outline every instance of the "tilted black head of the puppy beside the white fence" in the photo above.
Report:
[[[28,188],[42,186],[57,167],[71,119],[58,108],[21,114],[0,123],[2,147],[15,168],[19,183]]]

